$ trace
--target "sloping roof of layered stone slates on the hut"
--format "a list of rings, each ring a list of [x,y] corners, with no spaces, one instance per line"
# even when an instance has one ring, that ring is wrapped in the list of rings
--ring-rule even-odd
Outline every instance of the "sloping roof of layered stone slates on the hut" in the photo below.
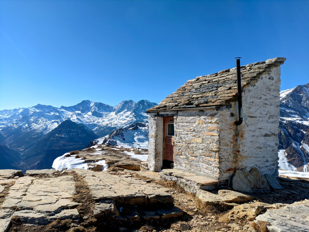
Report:
[[[282,65],[285,60],[286,58],[277,57],[240,66],[242,88],[256,83],[262,75],[270,71],[271,68]],[[222,106],[229,105],[236,100],[237,73],[236,68],[232,68],[188,80],[162,100],[159,105],[146,112]]]

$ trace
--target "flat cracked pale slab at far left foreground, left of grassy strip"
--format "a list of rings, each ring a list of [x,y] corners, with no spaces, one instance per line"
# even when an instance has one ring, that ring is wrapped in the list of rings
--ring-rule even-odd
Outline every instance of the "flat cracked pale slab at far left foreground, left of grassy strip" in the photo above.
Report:
[[[79,213],[75,209],[79,204],[71,199],[75,194],[73,176],[45,179],[19,177],[1,205],[0,228],[6,231],[11,217],[19,217],[30,224],[47,224],[66,218],[79,221]]]

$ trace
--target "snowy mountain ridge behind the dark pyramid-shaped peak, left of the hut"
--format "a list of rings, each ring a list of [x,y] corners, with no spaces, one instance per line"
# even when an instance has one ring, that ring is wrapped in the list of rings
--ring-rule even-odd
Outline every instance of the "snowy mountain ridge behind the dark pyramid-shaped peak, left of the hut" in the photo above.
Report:
[[[19,108],[0,111],[0,132],[5,136],[6,127],[29,130],[35,133],[48,133],[61,122],[69,119],[82,123],[98,136],[105,136],[121,127],[146,119],[146,109],[154,106],[148,100],[134,102],[125,100],[112,107],[107,104],[84,100],[74,106],[61,106],[37,104],[29,108]],[[109,129],[103,127],[108,126]],[[6,136],[5,136],[6,137]]]

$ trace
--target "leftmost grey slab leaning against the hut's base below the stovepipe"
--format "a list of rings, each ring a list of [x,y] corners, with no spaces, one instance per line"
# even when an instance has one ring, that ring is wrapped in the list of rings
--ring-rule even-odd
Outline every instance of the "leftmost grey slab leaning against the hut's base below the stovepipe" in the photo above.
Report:
[[[253,192],[253,176],[248,171],[236,170],[232,179],[232,188],[240,192]]]

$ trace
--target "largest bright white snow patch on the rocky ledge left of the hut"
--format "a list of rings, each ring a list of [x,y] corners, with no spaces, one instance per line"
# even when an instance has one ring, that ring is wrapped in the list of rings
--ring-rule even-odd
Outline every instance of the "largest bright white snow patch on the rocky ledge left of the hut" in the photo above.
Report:
[[[62,171],[63,169],[72,170],[72,168],[80,168],[80,169],[87,169],[88,165],[85,163],[85,160],[82,158],[75,158],[74,156],[66,157],[66,153],[59,157],[57,157],[54,162],[52,168]]]

